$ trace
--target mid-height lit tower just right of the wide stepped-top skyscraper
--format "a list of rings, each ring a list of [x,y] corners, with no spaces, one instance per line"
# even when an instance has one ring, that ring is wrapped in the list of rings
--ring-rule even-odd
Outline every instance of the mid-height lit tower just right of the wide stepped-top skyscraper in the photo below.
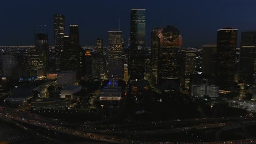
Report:
[[[182,50],[182,61],[181,61],[181,85],[185,89],[189,89],[190,75],[196,74],[195,71],[195,59],[196,51],[195,50]]]

